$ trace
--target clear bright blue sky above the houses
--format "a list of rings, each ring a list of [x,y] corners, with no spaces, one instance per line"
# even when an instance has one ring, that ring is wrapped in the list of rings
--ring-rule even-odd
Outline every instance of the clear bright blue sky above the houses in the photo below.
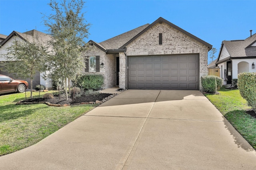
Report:
[[[86,0],[85,0],[86,1]],[[46,32],[42,14],[49,0],[0,0],[0,33]],[[218,51],[223,40],[246,39],[256,33],[256,0],[87,0],[89,38],[101,42],[162,17]],[[210,59],[208,60],[210,63]]]

